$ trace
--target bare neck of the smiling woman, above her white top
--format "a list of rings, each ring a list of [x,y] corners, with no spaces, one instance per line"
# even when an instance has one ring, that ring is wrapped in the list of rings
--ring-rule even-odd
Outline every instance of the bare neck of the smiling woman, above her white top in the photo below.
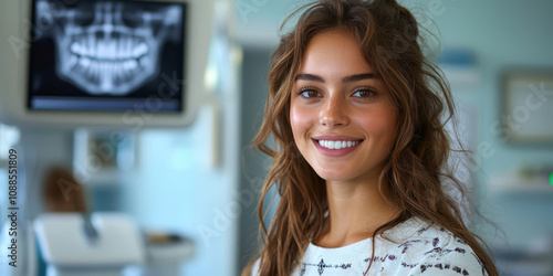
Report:
[[[373,181],[326,181],[326,195],[328,216],[314,242],[322,247],[342,247],[366,240],[399,214],[399,209],[380,194],[377,178]]]

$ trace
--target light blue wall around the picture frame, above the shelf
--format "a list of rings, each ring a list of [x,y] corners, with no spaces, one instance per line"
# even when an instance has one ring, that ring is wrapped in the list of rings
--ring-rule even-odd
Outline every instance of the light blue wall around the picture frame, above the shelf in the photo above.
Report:
[[[422,1],[430,4],[432,0]],[[468,49],[477,55],[481,87],[462,95],[481,110],[479,140],[492,144],[494,155],[483,160],[488,174],[503,173],[524,162],[553,163],[553,148],[512,147],[491,131],[499,119],[501,79],[505,70],[553,68],[553,2],[442,0],[444,14],[434,20],[444,49]],[[545,127],[545,126],[544,126]],[[551,126],[553,127],[553,125]]]

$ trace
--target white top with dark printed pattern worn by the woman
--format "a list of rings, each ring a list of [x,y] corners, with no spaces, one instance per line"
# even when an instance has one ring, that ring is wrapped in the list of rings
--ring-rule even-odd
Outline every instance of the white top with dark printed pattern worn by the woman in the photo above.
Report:
[[[367,274],[372,238],[338,248],[312,243],[293,276],[341,275],[478,275],[486,268],[474,252],[451,232],[421,219],[409,219],[377,236],[375,255]],[[252,275],[258,275],[259,259]]]

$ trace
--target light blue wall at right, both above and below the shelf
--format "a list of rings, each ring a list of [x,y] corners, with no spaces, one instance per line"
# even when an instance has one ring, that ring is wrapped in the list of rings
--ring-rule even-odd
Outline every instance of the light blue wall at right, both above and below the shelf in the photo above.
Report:
[[[456,96],[477,107],[478,142],[491,145],[491,156],[482,158],[480,183],[488,184],[491,178],[512,173],[521,166],[553,168],[551,145],[505,145],[491,130],[501,115],[501,74],[505,70],[553,68],[553,1],[421,1],[427,11],[432,10],[431,4],[439,11],[429,14],[440,30],[442,49],[469,50],[477,57],[480,85]],[[553,124],[544,127],[553,128]],[[484,195],[484,215],[507,234],[507,241],[498,236],[497,243],[520,247],[553,233],[553,187],[545,194],[519,191]]]

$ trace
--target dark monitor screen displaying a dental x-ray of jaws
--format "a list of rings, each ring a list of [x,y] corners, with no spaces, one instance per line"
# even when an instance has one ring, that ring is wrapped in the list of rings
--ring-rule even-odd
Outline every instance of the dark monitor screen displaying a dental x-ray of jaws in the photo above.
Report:
[[[161,74],[182,78],[182,3],[34,1],[31,109],[125,110],[160,94]],[[182,86],[170,87],[156,112],[181,109]]]

